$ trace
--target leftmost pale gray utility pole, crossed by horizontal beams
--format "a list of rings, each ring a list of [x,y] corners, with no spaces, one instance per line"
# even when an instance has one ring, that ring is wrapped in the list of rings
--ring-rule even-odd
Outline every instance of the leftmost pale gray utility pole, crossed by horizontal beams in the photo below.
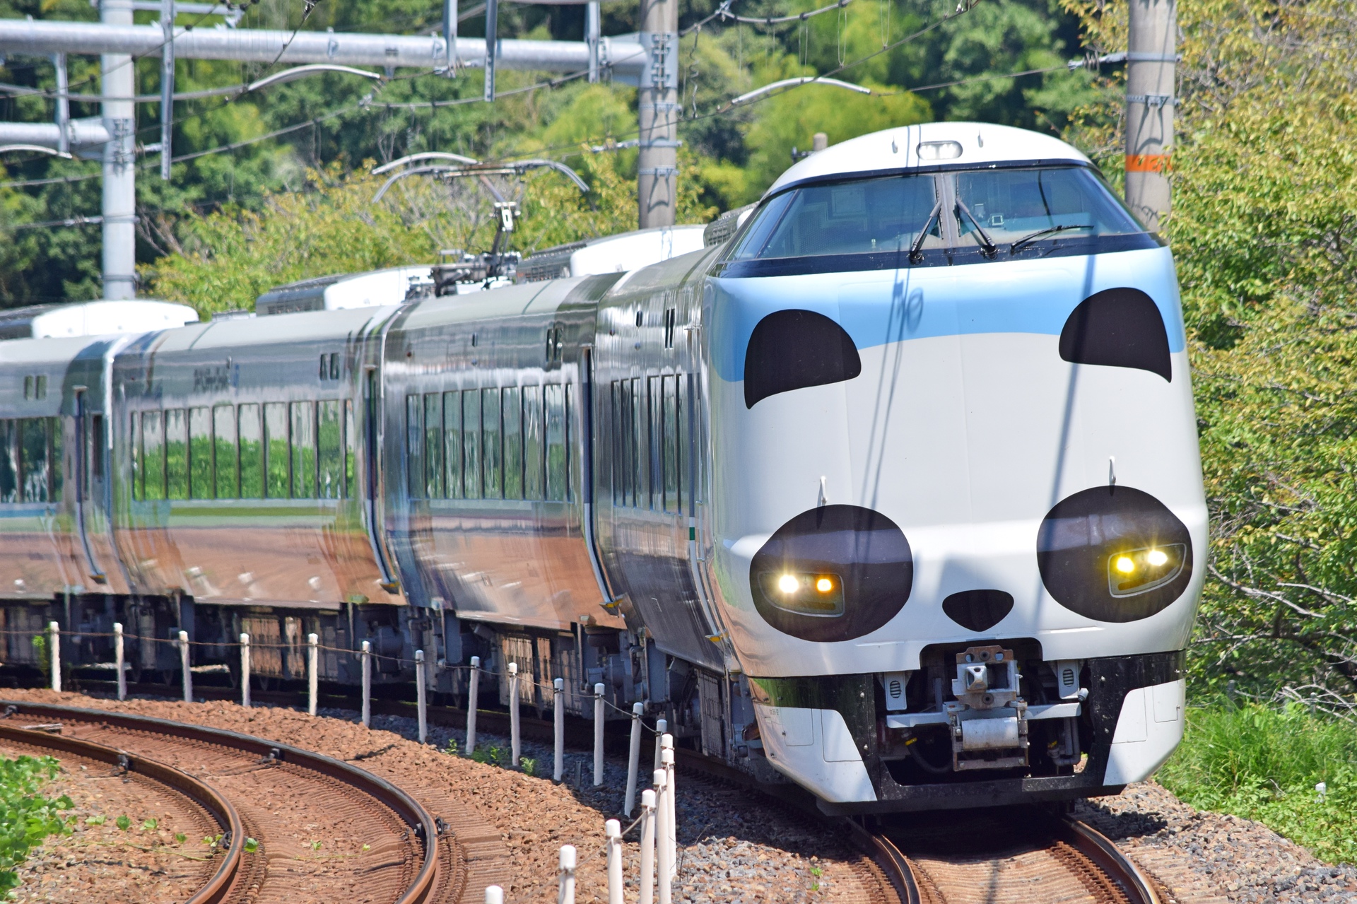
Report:
[[[99,20],[104,24],[130,26],[130,0],[102,0]],[[103,87],[103,125],[109,143],[103,145],[103,297],[110,300],[137,297],[137,155],[136,68],[126,53],[100,57]]]

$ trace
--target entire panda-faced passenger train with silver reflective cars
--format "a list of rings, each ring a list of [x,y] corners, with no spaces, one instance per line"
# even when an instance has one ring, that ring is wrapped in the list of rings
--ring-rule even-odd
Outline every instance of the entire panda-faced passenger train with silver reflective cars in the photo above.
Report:
[[[508,704],[516,664],[529,709],[563,679],[589,719],[603,685],[844,814],[1164,761],[1206,555],[1186,338],[1170,248],[1088,157],[893,128],[615,239],[0,342],[0,668],[49,620],[91,681],[114,622],[137,680],[179,631],[224,683],[250,634],[266,687],[312,633],[328,687],[364,642],[391,688],[423,650],[456,706]]]

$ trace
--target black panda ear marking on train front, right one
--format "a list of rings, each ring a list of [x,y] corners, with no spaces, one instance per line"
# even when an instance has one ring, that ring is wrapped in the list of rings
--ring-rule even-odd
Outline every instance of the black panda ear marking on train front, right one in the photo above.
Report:
[[[1060,331],[1060,357],[1174,379],[1164,318],[1140,289],[1105,289],[1080,301]]]

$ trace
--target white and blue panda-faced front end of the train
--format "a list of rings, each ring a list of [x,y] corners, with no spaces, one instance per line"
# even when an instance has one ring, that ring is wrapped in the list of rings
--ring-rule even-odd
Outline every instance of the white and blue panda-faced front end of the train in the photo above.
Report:
[[[886,141],[915,166],[873,166]],[[708,280],[715,567],[759,742],[841,804],[1141,778],[1181,734],[1206,539],[1171,255],[1050,138],[835,151]]]

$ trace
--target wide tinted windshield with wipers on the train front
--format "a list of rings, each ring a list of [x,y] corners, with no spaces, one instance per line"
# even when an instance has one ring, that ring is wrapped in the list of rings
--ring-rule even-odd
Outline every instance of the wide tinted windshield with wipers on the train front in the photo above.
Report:
[[[997,247],[1008,257],[1042,243],[1144,232],[1087,167],[963,170],[784,191],[759,210],[727,259],[904,251],[917,263],[947,250]]]

